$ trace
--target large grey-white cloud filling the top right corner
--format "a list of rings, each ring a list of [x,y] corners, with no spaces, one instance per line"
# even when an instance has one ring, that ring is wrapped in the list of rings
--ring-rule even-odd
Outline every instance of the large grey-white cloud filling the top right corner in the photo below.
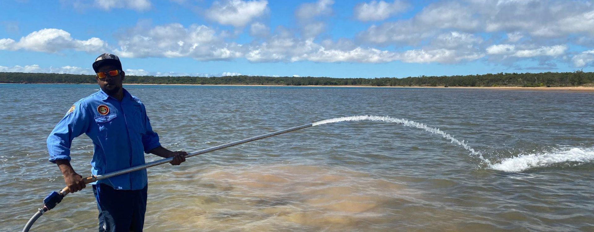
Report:
[[[594,10],[587,1],[440,1],[412,18],[373,25],[358,38],[375,45],[417,45],[443,31],[507,33],[508,42],[594,35]]]

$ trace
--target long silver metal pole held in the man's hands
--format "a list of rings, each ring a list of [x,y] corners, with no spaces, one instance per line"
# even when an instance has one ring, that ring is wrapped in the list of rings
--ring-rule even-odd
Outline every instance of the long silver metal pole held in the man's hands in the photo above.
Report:
[[[239,144],[245,144],[246,142],[256,141],[256,140],[263,139],[263,138],[268,138],[268,137],[271,137],[271,136],[274,136],[274,135],[285,134],[287,132],[297,131],[297,130],[308,128],[308,127],[311,127],[311,126],[313,126],[312,123],[308,123],[308,124],[305,124],[305,125],[295,126],[295,127],[292,127],[292,128],[287,128],[287,129],[283,129],[283,130],[276,131],[276,132],[271,132],[271,133],[264,134],[264,135],[258,135],[258,136],[254,136],[254,137],[247,138],[247,139],[241,139],[239,141],[229,142],[229,143],[221,144],[221,145],[214,146],[214,147],[211,147],[211,148],[206,148],[206,149],[203,149],[203,150],[194,151],[194,152],[188,153],[188,155],[186,157],[192,157],[192,156],[195,156],[195,155],[200,155],[200,154],[204,154],[204,153],[211,152],[211,151],[221,150],[223,148],[233,147],[233,146],[239,145]],[[111,173],[106,173],[106,174],[97,175],[97,176],[89,176],[89,177],[86,177],[84,179],[84,182],[88,184],[88,183],[91,183],[91,182],[96,182],[97,180],[107,179],[109,177],[118,176],[118,175],[129,173],[129,172],[132,172],[132,171],[138,171],[138,170],[148,169],[149,167],[154,167],[154,166],[157,166],[157,165],[166,164],[166,163],[169,163],[171,161],[173,161],[173,157],[164,158],[162,160],[152,161],[150,163],[142,164],[142,165],[135,166],[135,167],[129,167],[128,169],[122,169],[122,170],[119,170],[119,171],[113,171]],[[70,191],[69,191],[68,187],[65,187],[64,189],[62,189],[59,192],[59,194],[62,195],[62,196],[66,196],[69,192]]]

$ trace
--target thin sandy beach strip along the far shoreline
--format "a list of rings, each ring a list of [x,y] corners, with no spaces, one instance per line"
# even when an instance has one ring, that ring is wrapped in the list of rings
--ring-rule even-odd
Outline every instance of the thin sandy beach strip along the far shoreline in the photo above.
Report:
[[[21,83],[0,83],[0,84],[21,84]],[[72,83],[30,83],[30,84],[72,84]],[[83,83],[81,85],[92,85]],[[443,87],[443,86],[369,86],[369,85],[200,85],[200,84],[125,84],[124,85],[195,85],[195,86],[266,86],[266,87],[364,87],[364,88],[473,88],[484,90],[565,90],[565,91],[585,91],[594,92],[594,86],[570,86],[570,87]]]

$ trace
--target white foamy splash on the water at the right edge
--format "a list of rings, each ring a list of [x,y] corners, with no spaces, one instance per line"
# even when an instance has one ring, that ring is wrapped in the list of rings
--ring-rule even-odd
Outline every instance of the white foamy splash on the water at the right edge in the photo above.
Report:
[[[499,171],[520,172],[536,167],[547,167],[552,164],[594,161],[594,148],[564,148],[537,154],[522,154],[506,158],[501,163],[489,165]]]

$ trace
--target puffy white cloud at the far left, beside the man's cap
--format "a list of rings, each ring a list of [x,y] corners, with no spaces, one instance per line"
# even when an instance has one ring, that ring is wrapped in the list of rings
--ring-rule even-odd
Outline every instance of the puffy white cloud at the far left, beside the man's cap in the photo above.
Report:
[[[72,39],[70,33],[56,28],[45,28],[33,31],[21,37],[18,42],[12,39],[0,39],[1,50],[32,50],[36,52],[56,53],[60,50],[74,49],[82,52],[100,52],[107,49],[108,44],[93,37],[88,40]]]

